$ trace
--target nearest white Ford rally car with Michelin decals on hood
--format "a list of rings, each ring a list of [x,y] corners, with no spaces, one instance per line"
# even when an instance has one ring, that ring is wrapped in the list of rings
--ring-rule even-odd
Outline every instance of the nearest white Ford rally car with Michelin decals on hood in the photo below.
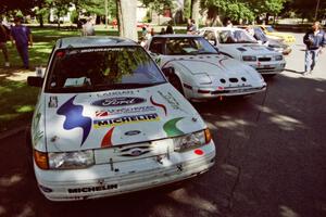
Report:
[[[51,201],[153,188],[214,164],[208,126],[134,41],[60,39],[45,76],[27,81],[41,87],[26,139]]]

